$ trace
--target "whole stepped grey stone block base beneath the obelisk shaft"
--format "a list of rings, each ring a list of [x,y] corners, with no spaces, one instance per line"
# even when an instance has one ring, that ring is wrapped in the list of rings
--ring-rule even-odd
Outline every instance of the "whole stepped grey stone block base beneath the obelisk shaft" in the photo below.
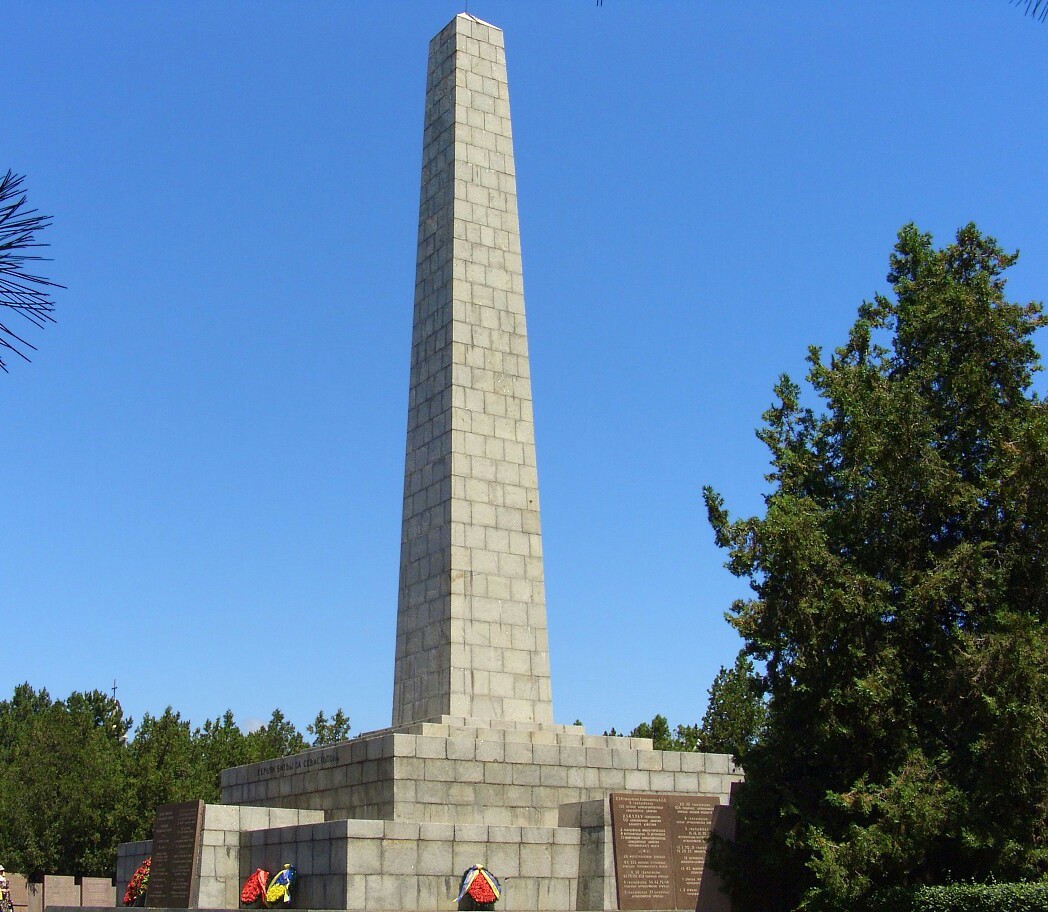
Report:
[[[613,910],[609,795],[702,795],[726,812],[742,778],[724,754],[655,751],[578,725],[470,722],[417,722],[225,770],[223,804],[204,807],[195,908],[235,908],[252,871],[292,864],[296,908],[446,910],[461,872],[482,863],[503,882],[506,912]],[[151,850],[122,847],[119,895]]]

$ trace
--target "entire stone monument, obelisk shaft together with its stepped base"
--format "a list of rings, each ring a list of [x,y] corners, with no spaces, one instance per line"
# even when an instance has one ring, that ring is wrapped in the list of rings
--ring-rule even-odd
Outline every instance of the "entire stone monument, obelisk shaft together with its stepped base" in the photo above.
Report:
[[[461,15],[430,46],[394,728],[224,770],[199,906],[287,863],[304,909],[427,912],[479,863],[510,910],[726,908],[703,864],[732,758],[552,722],[522,287],[502,32]],[[639,876],[631,813],[680,835]]]

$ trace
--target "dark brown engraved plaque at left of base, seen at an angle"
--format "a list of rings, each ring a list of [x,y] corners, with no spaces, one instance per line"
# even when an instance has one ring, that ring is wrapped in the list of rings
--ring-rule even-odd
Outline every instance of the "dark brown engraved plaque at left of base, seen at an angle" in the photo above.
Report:
[[[203,802],[161,804],[153,824],[153,863],[146,904],[154,908],[189,909],[200,859]]]

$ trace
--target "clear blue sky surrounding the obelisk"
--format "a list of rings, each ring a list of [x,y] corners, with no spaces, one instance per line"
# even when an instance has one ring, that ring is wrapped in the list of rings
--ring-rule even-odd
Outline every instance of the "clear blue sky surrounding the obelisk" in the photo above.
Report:
[[[0,695],[389,724],[425,55],[462,5],[4,4],[0,168],[68,290],[0,375]],[[777,376],[909,220],[1048,289],[1048,24],[470,10],[506,38],[554,713],[695,721],[745,591],[700,487],[760,511]]]

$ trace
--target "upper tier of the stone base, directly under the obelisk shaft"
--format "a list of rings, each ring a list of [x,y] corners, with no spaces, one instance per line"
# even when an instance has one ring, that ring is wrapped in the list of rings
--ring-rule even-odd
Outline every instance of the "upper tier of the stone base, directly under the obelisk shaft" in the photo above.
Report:
[[[727,803],[739,778],[725,754],[654,751],[651,739],[580,725],[445,717],[226,769],[222,803],[323,810],[329,820],[555,826],[561,805],[609,791]]]

